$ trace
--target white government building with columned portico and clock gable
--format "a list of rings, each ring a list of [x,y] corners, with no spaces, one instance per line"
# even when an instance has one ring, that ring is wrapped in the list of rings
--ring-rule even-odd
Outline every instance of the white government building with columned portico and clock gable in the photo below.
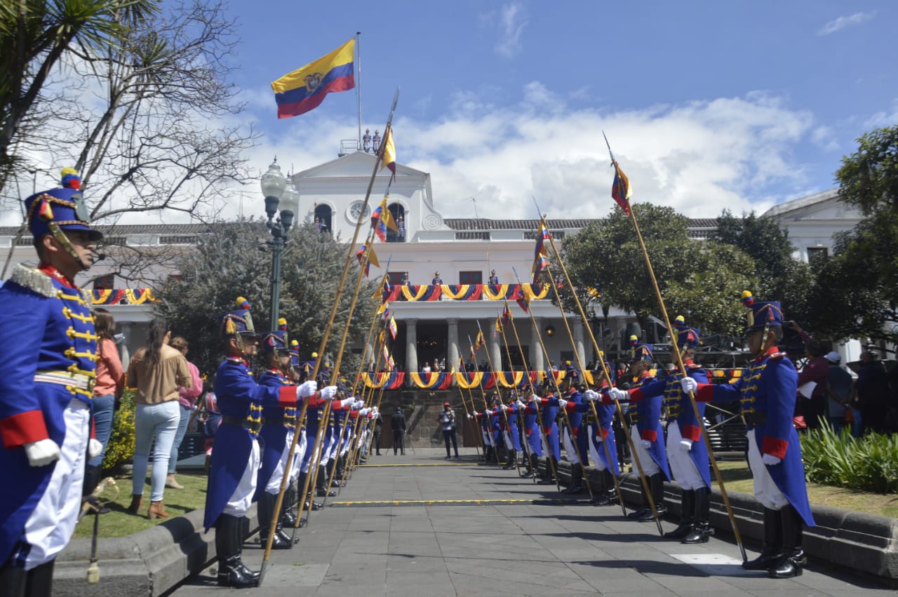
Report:
[[[310,221],[317,219],[340,241],[351,241],[374,170],[374,159],[374,154],[353,151],[293,174],[292,182],[300,197],[297,218],[301,221],[304,217]],[[388,176],[387,170],[378,174],[365,215],[369,215],[383,198]],[[386,243],[376,241],[374,247],[383,266],[390,260],[389,273],[393,285],[401,285],[406,276],[410,285],[430,285],[436,272],[439,272],[445,285],[486,285],[492,270],[495,270],[500,284],[515,284],[515,270],[522,282],[531,281],[533,239],[538,220],[445,218],[437,208],[438,200],[431,188],[429,173],[402,164],[397,164],[396,180],[392,183],[388,202],[395,219],[401,218],[404,233],[390,232]],[[691,236],[696,239],[707,237],[716,226],[714,216],[692,220]],[[850,230],[860,217],[857,210],[841,203],[835,190],[784,202],[762,216],[775,219],[788,230],[789,239],[796,247],[796,257],[804,260],[814,253],[831,251],[833,234]],[[550,219],[548,224],[550,233],[559,241],[565,235],[577,233],[588,222],[584,219]],[[369,225],[365,224],[359,242],[364,240],[368,229]],[[119,225],[112,230],[111,236],[117,244],[158,247],[159,250],[172,250],[177,254],[180,250],[189,250],[190,244],[206,230],[205,224]],[[31,238],[26,233],[16,241],[17,232],[17,228],[0,227],[0,248],[13,249],[6,276],[15,263],[33,264],[35,261]],[[173,261],[170,259],[168,263]],[[96,276],[108,272],[112,265],[101,262],[92,269],[91,274]],[[163,273],[165,267],[165,262],[159,266]],[[160,275],[159,268],[156,270],[157,277]],[[168,274],[176,276],[178,272],[169,269]],[[372,267],[372,279],[382,274],[383,269]],[[101,277],[93,286],[97,291],[95,294],[102,296],[115,316],[119,331],[126,336],[126,350],[133,351],[140,347],[145,340],[145,323],[152,316],[152,303],[146,300],[146,295],[141,290],[126,291],[126,284],[113,277]],[[629,313],[614,307],[609,309],[605,320],[601,306],[591,304],[587,321],[568,313],[568,324],[574,338],[572,345],[559,309],[550,301],[532,303],[535,327],[514,301],[509,304],[528,364],[532,370],[538,371],[550,368],[550,363],[563,368],[568,360],[576,366],[575,349],[582,363],[590,362],[594,351],[585,326],[592,326],[600,341],[604,338],[603,349],[613,349],[612,343],[616,342],[616,338],[621,338],[621,332],[626,332],[628,323],[635,321]],[[467,361],[470,356],[469,338],[476,338],[478,322],[487,338],[494,369],[509,370],[501,338],[494,338],[493,334],[493,322],[502,310],[502,301],[453,300],[444,294],[439,301],[397,300],[390,307],[399,324],[399,335],[392,354],[404,371],[420,371],[425,363],[432,364],[435,359],[445,360],[447,370],[451,364],[458,363],[459,357]],[[548,357],[543,355],[540,339]],[[516,344],[514,338],[509,338],[509,342]],[[356,347],[356,350],[360,348]],[[857,360],[859,345],[852,347],[850,343],[842,350],[846,360]],[[477,355],[480,362],[486,360],[482,349]],[[512,351],[511,361],[515,370],[521,367],[517,351]]]

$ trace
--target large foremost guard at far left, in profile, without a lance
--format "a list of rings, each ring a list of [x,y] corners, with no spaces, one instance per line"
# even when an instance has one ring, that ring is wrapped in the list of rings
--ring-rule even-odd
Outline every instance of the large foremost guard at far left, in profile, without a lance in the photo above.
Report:
[[[91,399],[97,335],[90,294],[75,276],[92,266],[93,230],[75,171],[63,188],[25,199],[40,266],[16,266],[0,288],[0,592],[50,595],[53,563],[75,531],[85,456],[92,439]]]

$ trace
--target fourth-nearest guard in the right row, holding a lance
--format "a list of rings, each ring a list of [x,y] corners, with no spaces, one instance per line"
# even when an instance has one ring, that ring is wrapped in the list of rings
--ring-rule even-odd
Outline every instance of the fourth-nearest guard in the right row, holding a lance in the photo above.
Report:
[[[609,363],[605,363],[608,372],[614,375],[614,369]],[[615,407],[613,404],[601,403],[600,394],[607,393],[611,389],[611,383],[605,378],[602,370],[594,373],[598,376],[595,383],[595,390],[587,390],[584,392],[584,401],[577,405],[577,410],[586,413],[587,427],[589,430],[589,454],[595,462],[595,470],[599,471],[599,491],[594,497],[594,505],[612,505],[617,503],[617,496],[614,490],[615,477],[621,476],[621,470],[617,461],[617,443],[614,441],[614,430],[612,428],[614,420]],[[613,379],[612,379],[613,382]],[[595,408],[595,413],[593,413]],[[599,420],[595,420],[595,415],[599,416]],[[603,445],[604,444],[604,445]],[[605,450],[605,447],[608,450]],[[609,454],[611,460],[609,461]]]

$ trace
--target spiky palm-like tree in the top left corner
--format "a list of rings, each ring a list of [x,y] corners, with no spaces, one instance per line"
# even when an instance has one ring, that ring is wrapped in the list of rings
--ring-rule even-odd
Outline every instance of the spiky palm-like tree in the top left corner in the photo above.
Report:
[[[37,123],[54,69],[75,48],[96,57],[126,40],[130,25],[157,0],[4,0],[0,4],[0,189],[17,159],[13,148]]]

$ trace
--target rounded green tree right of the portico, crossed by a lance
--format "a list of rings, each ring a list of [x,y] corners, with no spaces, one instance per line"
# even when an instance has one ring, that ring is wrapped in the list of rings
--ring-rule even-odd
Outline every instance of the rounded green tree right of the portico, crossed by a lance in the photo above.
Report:
[[[665,307],[705,333],[735,333],[743,326],[738,296],[751,287],[754,265],[742,250],[689,238],[689,220],[673,208],[632,206],[646,242]],[[596,288],[602,302],[636,313],[659,315],[655,289],[629,217],[612,215],[564,239],[562,256],[577,288]],[[571,305],[567,305],[571,308]]]

